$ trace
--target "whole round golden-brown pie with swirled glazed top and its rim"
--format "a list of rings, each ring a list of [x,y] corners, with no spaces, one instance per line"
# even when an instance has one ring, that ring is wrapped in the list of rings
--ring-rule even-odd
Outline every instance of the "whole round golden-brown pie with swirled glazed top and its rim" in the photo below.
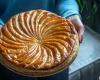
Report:
[[[0,30],[0,63],[26,76],[48,76],[67,68],[77,54],[72,23],[46,10],[11,17]]]

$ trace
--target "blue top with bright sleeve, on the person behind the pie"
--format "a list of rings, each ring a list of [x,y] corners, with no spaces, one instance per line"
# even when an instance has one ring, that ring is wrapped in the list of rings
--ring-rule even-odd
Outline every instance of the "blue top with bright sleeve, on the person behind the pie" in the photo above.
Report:
[[[0,0],[0,18],[4,22],[19,12],[32,9],[45,9],[62,17],[79,14],[76,0]]]

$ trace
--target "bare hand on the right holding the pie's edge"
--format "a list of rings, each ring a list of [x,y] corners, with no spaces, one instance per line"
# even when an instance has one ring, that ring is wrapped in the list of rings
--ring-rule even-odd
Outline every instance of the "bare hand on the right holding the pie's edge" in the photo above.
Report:
[[[79,42],[82,43],[85,28],[83,23],[80,20],[80,17],[78,15],[74,15],[74,16],[70,16],[68,20],[70,20],[75,26],[75,29],[77,30],[79,35]]]

